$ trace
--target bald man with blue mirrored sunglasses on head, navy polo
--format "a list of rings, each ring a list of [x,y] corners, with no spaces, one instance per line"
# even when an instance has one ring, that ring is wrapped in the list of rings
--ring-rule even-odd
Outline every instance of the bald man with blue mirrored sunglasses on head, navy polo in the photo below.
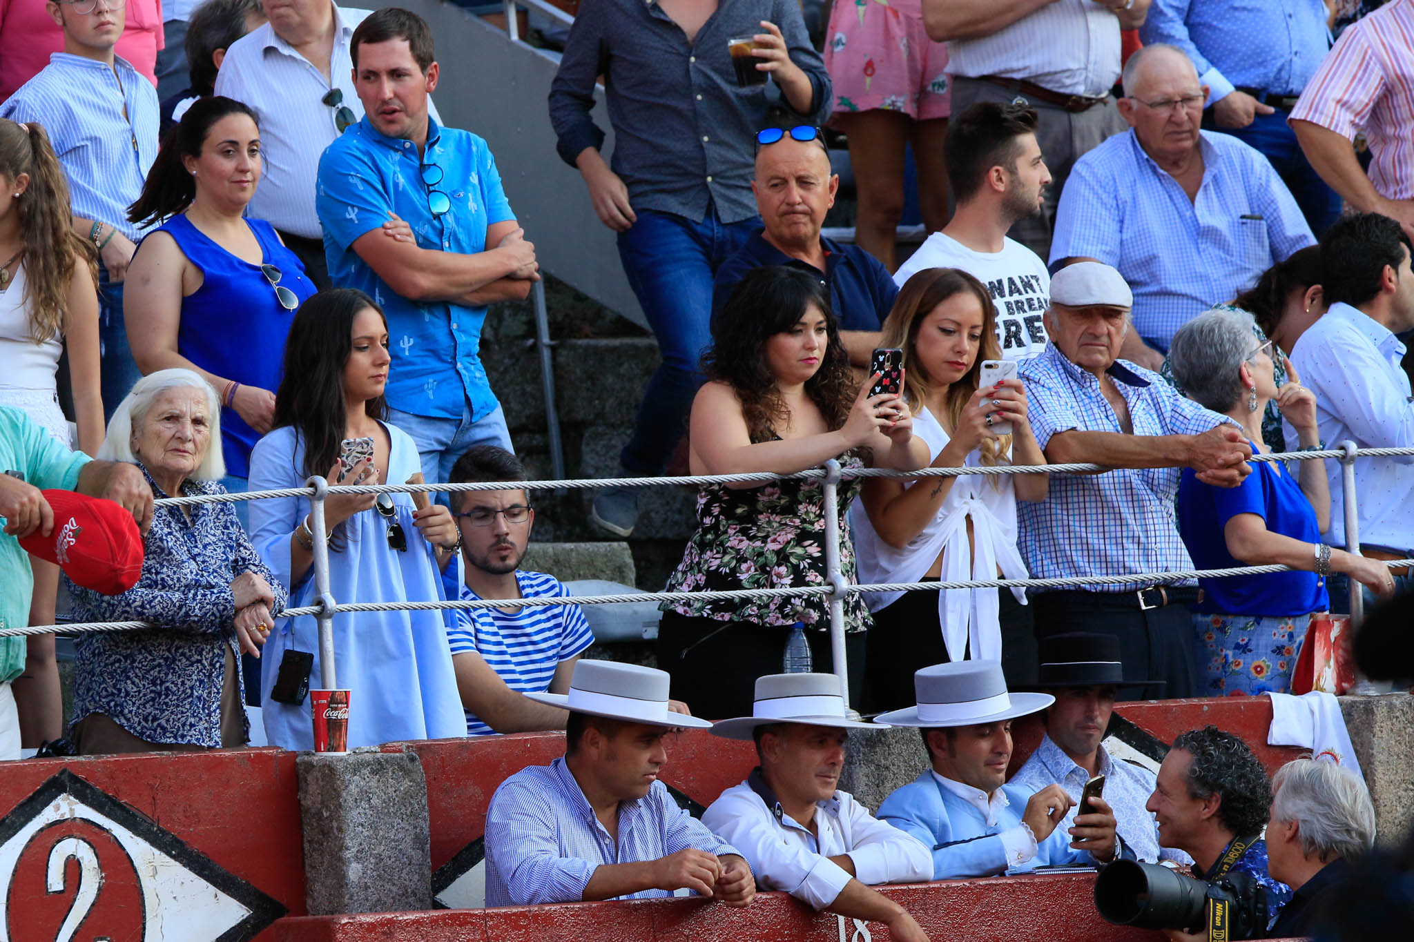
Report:
[[[762,136],[769,140],[778,133],[779,140],[756,144],[756,175],[751,181],[765,227],[717,270],[713,316],[752,268],[790,266],[809,271],[830,291],[830,306],[840,322],[840,339],[850,363],[867,369],[898,287],[888,268],[870,253],[820,236],[840,178],[830,172],[830,155],[819,130],[772,129]]]

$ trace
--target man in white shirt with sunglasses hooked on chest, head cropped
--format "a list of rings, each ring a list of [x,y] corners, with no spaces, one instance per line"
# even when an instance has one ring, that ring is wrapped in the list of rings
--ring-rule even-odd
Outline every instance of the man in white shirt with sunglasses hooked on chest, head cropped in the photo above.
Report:
[[[349,42],[369,11],[331,0],[262,0],[262,6],[269,21],[226,49],[215,93],[245,102],[260,123],[264,172],[250,215],[276,227],[322,291],[332,282],[314,185],[324,148],[363,117]],[[431,112],[437,117],[436,106]]]

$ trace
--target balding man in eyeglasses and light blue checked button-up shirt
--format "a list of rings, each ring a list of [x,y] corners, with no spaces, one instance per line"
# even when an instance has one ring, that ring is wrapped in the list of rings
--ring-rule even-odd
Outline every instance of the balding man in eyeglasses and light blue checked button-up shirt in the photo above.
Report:
[[[1150,370],[1184,323],[1315,244],[1267,158],[1200,130],[1206,100],[1178,47],[1131,55],[1120,100],[1131,130],[1076,161],[1056,213],[1051,268],[1085,258],[1118,268],[1134,292],[1120,356]]]

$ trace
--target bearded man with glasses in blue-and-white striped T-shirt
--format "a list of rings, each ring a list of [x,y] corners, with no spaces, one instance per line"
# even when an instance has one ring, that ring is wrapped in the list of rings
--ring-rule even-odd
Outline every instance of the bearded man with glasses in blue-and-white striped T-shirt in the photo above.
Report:
[[[454,484],[525,479],[520,459],[495,445],[468,449],[451,470]],[[525,489],[454,493],[451,507],[461,535],[461,566],[447,566],[443,576],[448,599],[570,595],[554,576],[516,568],[534,523]],[[594,643],[580,606],[454,609],[447,614],[468,736],[564,729],[568,713],[522,692],[570,689],[574,662]]]

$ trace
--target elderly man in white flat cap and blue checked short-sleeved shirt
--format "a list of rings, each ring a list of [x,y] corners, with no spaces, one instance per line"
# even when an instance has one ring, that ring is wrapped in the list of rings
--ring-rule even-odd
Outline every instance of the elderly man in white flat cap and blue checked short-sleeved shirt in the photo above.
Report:
[[[1019,549],[1038,579],[1189,569],[1174,525],[1179,467],[1233,487],[1251,448],[1232,421],[1179,395],[1157,373],[1117,359],[1133,295],[1110,266],[1082,261],[1051,280],[1051,342],[1021,364],[1031,428],[1052,465],[1090,462],[1103,475],[1055,475],[1046,500],[1018,506]],[[1038,638],[1104,631],[1120,638],[1126,676],[1195,693],[1192,582],[1133,580],[1032,592]],[[1120,691],[1120,699],[1135,693]]]

